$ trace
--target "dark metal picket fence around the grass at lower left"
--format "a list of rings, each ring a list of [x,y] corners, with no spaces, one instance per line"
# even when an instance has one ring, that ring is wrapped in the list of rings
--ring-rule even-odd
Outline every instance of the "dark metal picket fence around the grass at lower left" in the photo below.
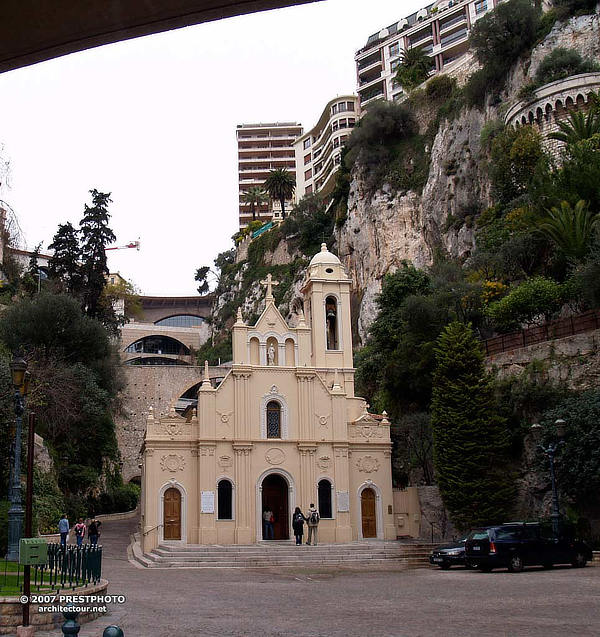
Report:
[[[0,596],[23,592],[23,566],[0,563]],[[102,546],[67,546],[48,543],[48,562],[31,567],[31,590],[80,588],[97,584],[102,576]]]

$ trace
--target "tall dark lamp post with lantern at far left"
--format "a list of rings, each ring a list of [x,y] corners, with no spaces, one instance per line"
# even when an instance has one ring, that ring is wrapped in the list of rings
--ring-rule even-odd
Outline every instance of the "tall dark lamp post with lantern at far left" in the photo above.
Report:
[[[15,389],[15,441],[10,476],[8,510],[8,560],[19,559],[19,540],[23,529],[23,507],[21,505],[21,431],[23,429],[23,412],[25,397],[29,385],[27,363],[21,357],[15,357],[11,363],[12,381]]]

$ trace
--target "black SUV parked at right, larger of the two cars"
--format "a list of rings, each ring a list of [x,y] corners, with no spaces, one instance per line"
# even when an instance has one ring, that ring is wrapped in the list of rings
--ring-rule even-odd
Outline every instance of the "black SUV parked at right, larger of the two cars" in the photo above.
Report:
[[[555,540],[538,522],[512,522],[471,531],[465,558],[482,571],[507,567],[518,573],[525,566],[585,566],[592,559],[592,551],[585,542],[573,538]]]

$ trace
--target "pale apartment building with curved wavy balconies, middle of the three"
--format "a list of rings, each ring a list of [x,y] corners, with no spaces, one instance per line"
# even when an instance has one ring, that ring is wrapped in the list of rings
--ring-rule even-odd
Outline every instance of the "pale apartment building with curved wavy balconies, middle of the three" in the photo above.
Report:
[[[333,190],[342,148],[358,110],[356,95],[336,97],[323,109],[316,126],[295,141],[296,201],[313,192],[326,197]]]

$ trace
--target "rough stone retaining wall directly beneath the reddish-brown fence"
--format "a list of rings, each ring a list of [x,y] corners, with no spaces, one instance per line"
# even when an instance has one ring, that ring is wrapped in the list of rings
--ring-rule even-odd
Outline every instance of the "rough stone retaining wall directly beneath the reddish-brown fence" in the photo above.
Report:
[[[537,343],[486,359],[488,369],[500,378],[518,376],[532,361],[544,365],[548,378],[574,390],[598,387],[600,383],[600,330]]]

